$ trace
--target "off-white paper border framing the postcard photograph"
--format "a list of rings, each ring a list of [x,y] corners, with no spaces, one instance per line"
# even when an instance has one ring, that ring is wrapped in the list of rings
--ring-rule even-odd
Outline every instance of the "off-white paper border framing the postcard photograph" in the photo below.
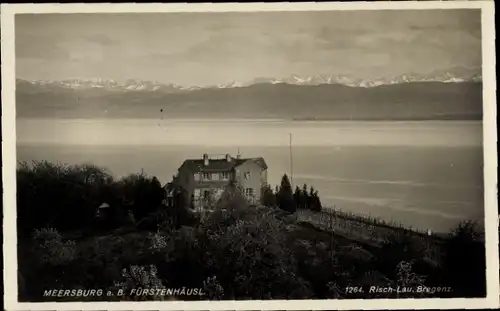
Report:
[[[350,299],[199,302],[19,303],[16,252],[16,126],[14,14],[248,12],[321,10],[481,9],[483,55],[484,191],[487,297],[477,299]],[[2,4],[2,178],[4,185],[4,301],[6,310],[348,310],[497,308],[499,253],[497,215],[496,75],[493,1],[408,1],[342,3],[204,3],[204,4]]]

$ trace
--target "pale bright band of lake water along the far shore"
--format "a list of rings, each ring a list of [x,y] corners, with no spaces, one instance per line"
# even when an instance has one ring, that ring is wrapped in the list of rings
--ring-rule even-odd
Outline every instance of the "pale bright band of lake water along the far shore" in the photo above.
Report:
[[[477,121],[21,119],[20,143],[206,146],[474,146]]]

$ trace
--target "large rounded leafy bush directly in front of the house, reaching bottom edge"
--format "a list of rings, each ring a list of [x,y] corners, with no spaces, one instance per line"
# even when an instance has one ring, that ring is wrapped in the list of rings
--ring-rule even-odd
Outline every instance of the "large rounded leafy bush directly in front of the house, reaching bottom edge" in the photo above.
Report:
[[[198,233],[207,270],[217,276],[224,297],[292,299],[312,295],[285,245],[285,224],[273,210],[228,203],[228,209],[214,212]]]

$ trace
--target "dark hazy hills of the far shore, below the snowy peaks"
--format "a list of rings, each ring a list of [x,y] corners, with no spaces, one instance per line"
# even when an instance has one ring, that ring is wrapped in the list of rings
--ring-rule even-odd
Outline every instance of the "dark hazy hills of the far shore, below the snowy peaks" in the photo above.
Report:
[[[369,88],[260,83],[232,88],[126,91],[63,88],[18,80],[16,101],[18,118],[480,120],[482,83],[411,82]]]

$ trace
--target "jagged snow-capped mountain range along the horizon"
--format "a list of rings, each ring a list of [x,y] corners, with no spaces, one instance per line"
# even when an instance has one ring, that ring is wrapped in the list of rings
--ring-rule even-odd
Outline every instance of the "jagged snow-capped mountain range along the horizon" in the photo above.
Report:
[[[112,91],[161,91],[161,92],[183,92],[206,88],[238,88],[247,87],[254,84],[291,84],[291,85],[323,85],[323,84],[341,84],[351,87],[376,87],[380,85],[393,85],[411,82],[480,82],[482,80],[480,70],[477,68],[469,69],[463,67],[452,68],[450,70],[435,71],[430,74],[402,74],[393,77],[381,77],[376,79],[363,79],[350,75],[313,75],[300,76],[291,75],[289,77],[277,78],[256,78],[248,82],[230,82],[210,86],[187,86],[179,84],[165,84],[158,81],[148,81],[142,79],[129,79],[125,82],[117,82],[111,79],[66,79],[60,81],[52,80],[29,80],[26,81],[33,85],[56,87],[65,89],[105,89]]]

